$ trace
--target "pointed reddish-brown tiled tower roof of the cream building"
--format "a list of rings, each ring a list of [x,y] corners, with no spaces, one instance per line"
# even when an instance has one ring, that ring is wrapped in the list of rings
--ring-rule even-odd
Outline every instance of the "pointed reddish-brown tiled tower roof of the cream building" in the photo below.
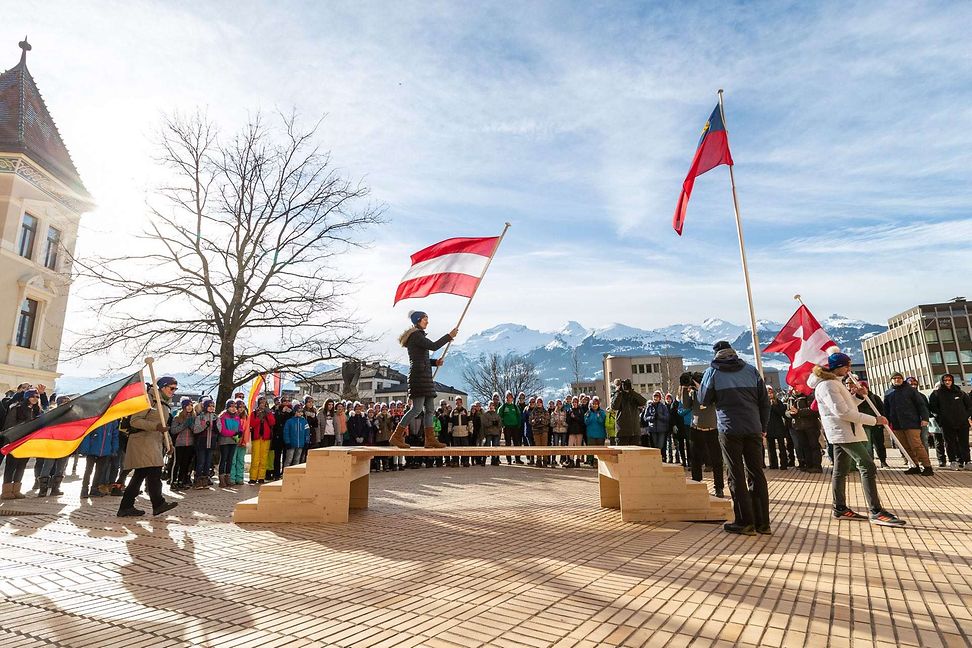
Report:
[[[27,70],[30,43],[19,43],[20,62],[0,74],[0,151],[23,153],[71,190],[90,198],[57,125]]]

